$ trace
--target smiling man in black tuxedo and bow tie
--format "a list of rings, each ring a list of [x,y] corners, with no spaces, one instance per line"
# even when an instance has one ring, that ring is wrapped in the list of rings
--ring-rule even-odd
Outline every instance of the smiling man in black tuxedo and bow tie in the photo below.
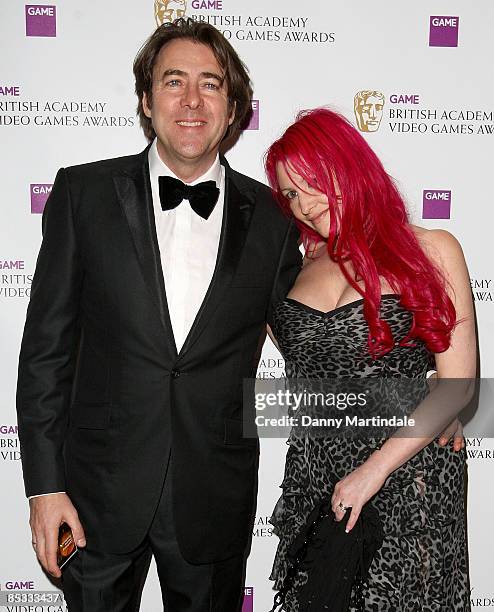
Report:
[[[72,528],[71,612],[138,609],[151,555],[167,610],[234,612],[258,463],[242,379],[300,268],[297,232],[218,154],[252,90],[217,30],[164,24],[134,73],[152,144],[61,169],[43,216],[18,380],[33,546],[60,576]]]

